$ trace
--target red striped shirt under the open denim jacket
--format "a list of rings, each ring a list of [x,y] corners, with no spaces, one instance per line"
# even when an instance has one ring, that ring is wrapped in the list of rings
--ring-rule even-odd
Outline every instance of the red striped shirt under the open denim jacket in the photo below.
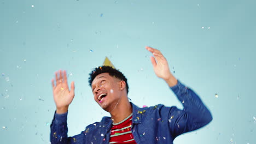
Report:
[[[112,123],[109,144],[136,144],[132,131],[132,113],[119,123]]]

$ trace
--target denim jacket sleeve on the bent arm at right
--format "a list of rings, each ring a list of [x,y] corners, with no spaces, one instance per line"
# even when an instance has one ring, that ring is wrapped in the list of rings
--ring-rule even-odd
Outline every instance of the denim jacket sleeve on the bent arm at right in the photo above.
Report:
[[[199,129],[212,121],[211,112],[192,89],[185,87],[179,80],[177,85],[170,88],[183,105],[183,110],[172,106],[168,111],[163,111],[168,113],[168,126],[173,137]]]

